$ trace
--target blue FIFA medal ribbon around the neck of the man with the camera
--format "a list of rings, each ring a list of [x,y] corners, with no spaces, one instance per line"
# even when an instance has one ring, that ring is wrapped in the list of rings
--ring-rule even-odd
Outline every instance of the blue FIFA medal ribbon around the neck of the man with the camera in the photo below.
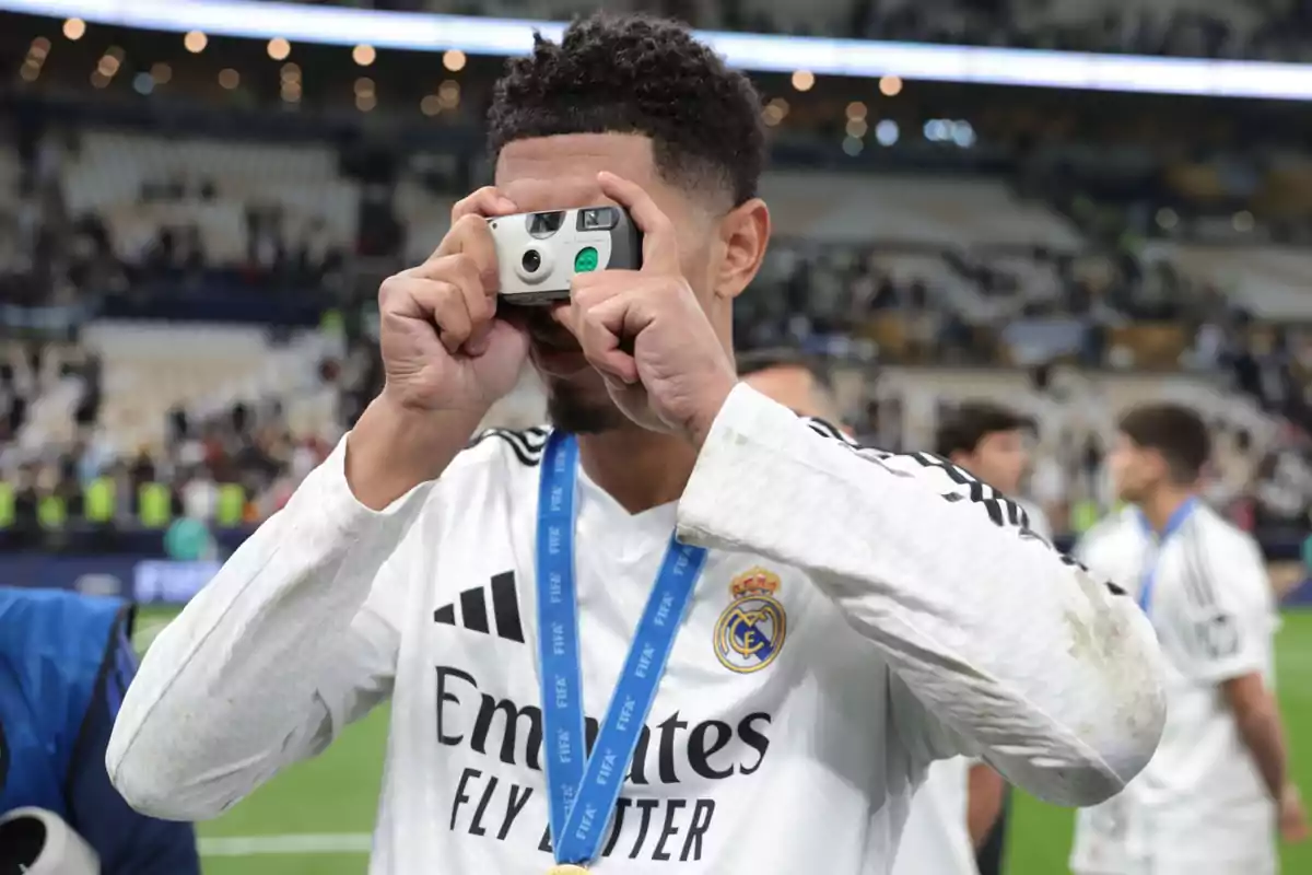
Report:
[[[706,550],[681,544],[670,535],[593,754],[588,757],[575,590],[577,471],[579,445],[573,436],[552,432],[542,458],[537,544],[547,811],[556,863],[584,866],[601,850],[674,636],[706,563]]]

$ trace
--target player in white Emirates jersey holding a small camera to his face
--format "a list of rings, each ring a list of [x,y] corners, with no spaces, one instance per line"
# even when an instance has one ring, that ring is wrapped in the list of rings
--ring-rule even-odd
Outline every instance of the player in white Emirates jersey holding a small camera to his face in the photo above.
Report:
[[[1134,603],[949,463],[737,384],[770,234],[747,77],[590,17],[508,63],[489,139],[495,188],[383,283],[386,387],[147,653],[119,790],[214,816],[388,695],[375,875],[857,875],[932,758],[1123,787],[1165,716]],[[600,203],[640,270],[497,302],[484,216]],[[466,449],[526,361],[552,428]]]

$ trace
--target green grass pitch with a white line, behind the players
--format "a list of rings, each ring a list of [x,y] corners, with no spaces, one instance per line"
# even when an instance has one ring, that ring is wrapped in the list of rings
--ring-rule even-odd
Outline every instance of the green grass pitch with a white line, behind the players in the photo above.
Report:
[[[139,643],[169,618],[144,611]],[[1312,611],[1287,611],[1277,677],[1294,774],[1312,792]],[[387,740],[380,708],[321,757],[289,769],[216,821],[201,825],[206,875],[362,875]],[[1302,740],[1302,741],[1300,741]],[[1061,875],[1071,812],[1018,794],[1008,842],[1009,875]],[[1312,846],[1283,849],[1283,871],[1312,872]]]

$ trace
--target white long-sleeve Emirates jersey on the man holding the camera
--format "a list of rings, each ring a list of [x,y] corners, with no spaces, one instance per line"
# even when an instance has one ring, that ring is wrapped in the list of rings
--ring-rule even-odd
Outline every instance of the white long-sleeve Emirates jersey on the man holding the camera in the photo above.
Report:
[[[380,513],[338,446],[155,641],[109,748],[119,791],[213,817],[390,695],[370,872],[546,871],[544,437],[491,433]],[[677,505],[628,514],[579,480],[589,732],[670,530],[710,548],[601,875],[884,872],[934,758],[1088,804],[1157,744],[1134,602],[937,457],[854,451],[740,386]]]

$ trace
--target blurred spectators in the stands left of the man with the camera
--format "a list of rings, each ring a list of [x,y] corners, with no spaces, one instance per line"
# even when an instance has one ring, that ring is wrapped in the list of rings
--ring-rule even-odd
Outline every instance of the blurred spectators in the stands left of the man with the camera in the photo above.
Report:
[[[194,226],[161,226],[123,257],[110,222],[73,214],[62,163],[77,138],[63,132],[24,142],[12,185],[0,197],[0,529],[10,546],[47,543],[72,523],[100,529],[163,529],[189,517],[226,527],[277,510],[318,464],[335,434],[291,434],[279,399],[237,399],[220,413],[168,415],[163,446],[125,450],[100,426],[104,376],[83,327],[110,298],[169,294],[319,294],[340,279],[345,257],[321,224],[294,230],[278,205],[245,205],[245,257],[215,264]],[[142,186],[143,205],[209,202],[213,180],[164,178]],[[319,363],[340,390],[342,422],[358,416],[380,379],[366,342]],[[348,382],[349,380],[349,382]],[[75,438],[64,446],[22,442],[33,408],[56,388],[76,396]],[[353,412],[354,411],[354,412]]]

